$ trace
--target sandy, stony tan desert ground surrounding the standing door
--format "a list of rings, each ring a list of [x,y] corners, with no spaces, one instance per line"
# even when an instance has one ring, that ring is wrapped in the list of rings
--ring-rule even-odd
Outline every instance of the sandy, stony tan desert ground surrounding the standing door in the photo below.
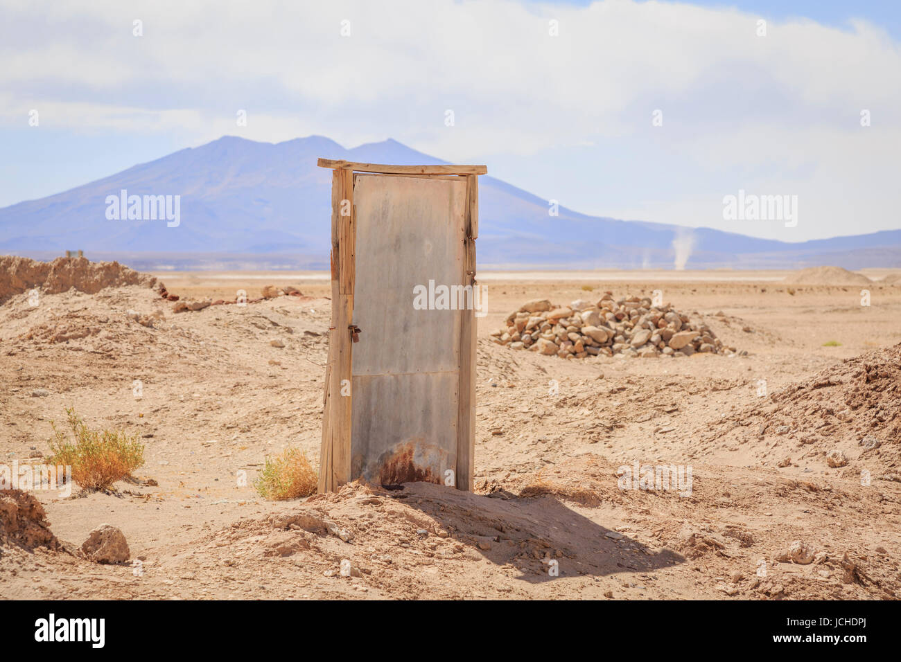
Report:
[[[0,305],[0,462],[48,452],[50,421],[73,405],[92,426],[140,432],[147,462],[114,493],[32,493],[69,549],[108,522],[140,569],[0,548],[0,596],[895,598],[901,394],[885,352],[901,342],[901,285],[868,286],[861,306],[860,286],[789,287],[785,273],[481,275],[476,493],[354,484],[279,503],[250,483],[286,447],[318,463],[323,275],[157,274],[183,299],[270,283],[305,295],[178,314],[141,286],[36,306],[15,295]],[[488,339],[528,299],[605,290],[661,290],[748,355],[564,360]],[[163,319],[142,326],[130,309]],[[833,449],[848,464],[830,467]],[[621,489],[635,461],[690,467],[691,494]],[[795,540],[814,562],[787,562]],[[340,576],[341,559],[359,576]]]

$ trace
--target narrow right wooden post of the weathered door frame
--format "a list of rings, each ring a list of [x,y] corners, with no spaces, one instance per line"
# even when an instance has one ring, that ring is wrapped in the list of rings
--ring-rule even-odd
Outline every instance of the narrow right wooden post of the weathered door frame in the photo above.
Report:
[[[460,390],[457,419],[457,488],[472,491],[476,453],[476,238],[478,237],[478,175],[466,176],[466,220],[463,241],[463,285],[472,287],[472,306],[460,316]]]

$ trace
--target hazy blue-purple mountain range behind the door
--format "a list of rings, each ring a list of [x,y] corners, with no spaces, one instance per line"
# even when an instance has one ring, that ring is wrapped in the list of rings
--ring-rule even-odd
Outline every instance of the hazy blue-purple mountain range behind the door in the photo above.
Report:
[[[0,209],[0,252],[83,249],[136,268],[327,268],[332,172],[316,159],[445,163],[393,140],[345,150],[322,136],[271,144],[224,136],[110,177]],[[490,170],[490,164],[489,164]],[[177,227],[111,220],[107,196],[179,195]],[[118,208],[118,205],[116,205]],[[478,262],[525,268],[901,267],[901,230],[787,243],[588,216],[480,177]]]

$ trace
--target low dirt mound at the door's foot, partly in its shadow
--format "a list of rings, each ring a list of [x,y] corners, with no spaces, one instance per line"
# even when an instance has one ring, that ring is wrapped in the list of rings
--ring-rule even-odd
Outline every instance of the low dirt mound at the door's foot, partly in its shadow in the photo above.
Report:
[[[616,492],[615,481],[607,492]],[[635,560],[633,549],[620,550],[605,537],[609,531],[545,494],[488,496],[431,483],[387,491],[353,483],[291,512],[215,531],[203,540],[214,563],[190,562],[198,574],[224,566],[236,581],[266,576],[254,584],[296,585],[278,577],[300,567],[308,573],[304,590],[460,599],[526,597],[531,585],[551,579],[553,564],[560,576],[574,578],[616,575],[626,563],[652,570],[680,560],[669,550],[643,548]],[[180,563],[187,559],[179,555],[161,569],[182,572]],[[486,582],[486,573],[495,581]],[[475,592],[470,581],[479,583]]]

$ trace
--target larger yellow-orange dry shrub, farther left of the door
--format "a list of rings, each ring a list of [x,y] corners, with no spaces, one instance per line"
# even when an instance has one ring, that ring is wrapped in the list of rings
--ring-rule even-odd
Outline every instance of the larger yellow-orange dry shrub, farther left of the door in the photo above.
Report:
[[[89,430],[75,409],[66,409],[72,441],[53,426],[50,463],[72,467],[72,480],[86,490],[106,490],[144,464],[144,446],[138,435],[124,431]]]

